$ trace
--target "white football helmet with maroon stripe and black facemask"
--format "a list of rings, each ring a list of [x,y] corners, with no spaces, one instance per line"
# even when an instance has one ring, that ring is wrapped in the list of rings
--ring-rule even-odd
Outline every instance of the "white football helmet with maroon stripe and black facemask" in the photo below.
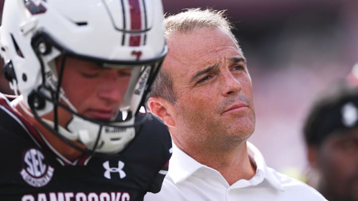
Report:
[[[135,127],[143,123],[135,116],[168,52],[161,0],[5,0],[0,46],[5,76],[23,95],[29,113],[89,153],[116,153],[134,138]],[[55,66],[59,56],[133,67],[120,118],[102,121],[77,113],[61,88],[63,70],[58,75]],[[42,118],[58,107],[72,113],[67,128],[56,117]],[[87,149],[71,142],[76,140]]]

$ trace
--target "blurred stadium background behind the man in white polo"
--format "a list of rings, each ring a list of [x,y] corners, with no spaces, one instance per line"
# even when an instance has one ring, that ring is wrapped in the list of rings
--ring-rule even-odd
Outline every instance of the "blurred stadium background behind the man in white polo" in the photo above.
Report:
[[[322,89],[358,62],[358,1],[162,1],[168,13],[191,7],[227,10],[253,79],[257,127],[249,141],[269,166],[292,176],[304,172],[304,115]],[[5,84],[0,76],[0,90]]]

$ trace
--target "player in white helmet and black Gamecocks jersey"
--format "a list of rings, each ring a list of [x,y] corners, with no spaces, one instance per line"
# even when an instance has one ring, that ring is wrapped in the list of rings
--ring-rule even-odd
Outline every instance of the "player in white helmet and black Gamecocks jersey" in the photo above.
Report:
[[[5,0],[1,201],[141,201],[167,128],[141,114],[167,54],[160,0]]]

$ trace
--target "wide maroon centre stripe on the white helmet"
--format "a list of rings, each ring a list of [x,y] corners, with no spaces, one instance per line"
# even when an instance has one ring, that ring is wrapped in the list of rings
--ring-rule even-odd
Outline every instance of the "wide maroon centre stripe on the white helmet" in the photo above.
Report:
[[[131,17],[131,30],[141,30],[142,29],[142,16],[141,8],[139,5],[139,0],[128,0],[130,8],[130,17]],[[130,36],[129,46],[139,46],[141,41],[141,36]]]

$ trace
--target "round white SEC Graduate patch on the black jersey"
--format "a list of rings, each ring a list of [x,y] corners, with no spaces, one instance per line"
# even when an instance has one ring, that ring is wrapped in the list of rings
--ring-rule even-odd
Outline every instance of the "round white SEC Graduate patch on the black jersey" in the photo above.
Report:
[[[36,148],[27,150],[23,156],[23,169],[20,172],[22,179],[33,187],[43,187],[53,176],[54,168],[47,165],[45,156]]]

